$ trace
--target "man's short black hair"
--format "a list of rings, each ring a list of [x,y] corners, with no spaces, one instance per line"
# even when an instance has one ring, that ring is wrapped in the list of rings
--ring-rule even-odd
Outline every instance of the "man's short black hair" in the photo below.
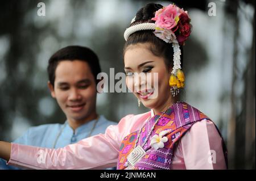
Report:
[[[49,58],[47,71],[48,71],[49,82],[53,87],[55,82],[55,70],[57,68],[57,65],[59,64],[59,62],[65,61],[65,60],[68,60],[68,61],[80,60],[80,61],[87,62],[94,76],[96,85],[100,81],[100,80],[97,80],[97,75],[98,73],[101,72],[101,68],[100,68],[100,63],[96,53],[94,53],[93,50],[86,47],[68,46],[60,50],[57,50],[57,52],[54,53],[51,56],[51,58]]]

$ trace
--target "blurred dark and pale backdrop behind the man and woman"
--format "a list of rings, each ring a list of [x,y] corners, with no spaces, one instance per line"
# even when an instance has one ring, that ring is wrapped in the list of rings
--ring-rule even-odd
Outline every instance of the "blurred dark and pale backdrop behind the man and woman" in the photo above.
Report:
[[[46,16],[38,16],[39,2],[46,5]],[[31,126],[64,123],[47,88],[48,58],[56,50],[90,47],[102,71],[124,72],[123,32],[148,2],[153,1],[1,1],[0,140],[13,141]],[[192,19],[181,99],[220,128],[229,169],[255,169],[255,1],[155,2],[175,2]],[[137,105],[131,93],[97,97],[98,112],[116,122],[129,113],[148,111]]]

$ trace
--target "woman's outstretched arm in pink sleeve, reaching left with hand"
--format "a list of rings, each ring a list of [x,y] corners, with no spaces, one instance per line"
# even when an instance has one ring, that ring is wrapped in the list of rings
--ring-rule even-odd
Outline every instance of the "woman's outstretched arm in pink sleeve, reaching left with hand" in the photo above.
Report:
[[[128,115],[118,125],[110,125],[105,134],[85,138],[60,149],[14,143],[7,146],[4,142],[0,155],[9,165],[31,169],[106,169],[116,165],[122,139],[141,127],[144,120],[138,121],[136,116]]]

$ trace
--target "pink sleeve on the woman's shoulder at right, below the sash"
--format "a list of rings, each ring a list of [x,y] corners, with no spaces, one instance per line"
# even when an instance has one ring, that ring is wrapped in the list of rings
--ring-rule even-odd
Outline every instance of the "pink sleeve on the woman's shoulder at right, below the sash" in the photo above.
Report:
[[[210,158],[216,155],[216,163]],[[209,162],[209,160],[212,162]],[[174,151],[172,169],[226,169],[221,137],[212,121],[202,120],[195,123],[181,138]]]

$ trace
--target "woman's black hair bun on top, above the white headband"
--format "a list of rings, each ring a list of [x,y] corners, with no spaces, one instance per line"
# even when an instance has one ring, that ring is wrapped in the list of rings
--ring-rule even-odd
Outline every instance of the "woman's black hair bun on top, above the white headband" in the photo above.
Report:
[[[155,11],[162,9],[163,6],[155,3],[148,3],[146,6],[142,7],[137,14],[135,21],[136,22],[146,22],[155,17]]]

